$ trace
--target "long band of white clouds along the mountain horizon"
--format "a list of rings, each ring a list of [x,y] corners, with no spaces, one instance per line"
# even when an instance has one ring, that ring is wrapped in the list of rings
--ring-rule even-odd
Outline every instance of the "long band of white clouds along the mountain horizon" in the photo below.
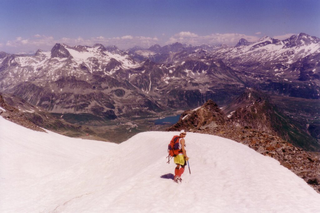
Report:
[[[214,33],[210,35],[198,35],[196,33],[192,33],[189,31],[182,31],[175,35],[172,35],[167,41],[163,41],[158,37],[148,37],[148,36],[132,36],[132,35],[124,35],[118,37],[109,37],[106,38],[102,35],[91,37],[91,38],[54,38],[53,36],[48,35],[33,35],[30,38],[24,38],[22,36],[17,37],[15,40],[9,40],[6,43],[2,44],[9,51],[36,51],[37,49],[42,49],[45,51],[51,50],[55,43],[65,43],[69,46],[76,45],[85,45],[85,46],[93,46],[95,43],[101,43],[104,46],[116,45],[119,49],[128,49],[134,46],[141,46],[144,48],[148,48],[156,43],[160,45],[172,44],[172,43],[188,43],[192,45],[201,45],[203,43],[207,44],[228,44],[235,45],[241,38],[246,39],[249,42],[256,42],[259,40],[258,37],[261,32],[255,33],[255,35],[245,35],[238,33]],[[289,38],[294,34],[285,34],[274,36],[274,38],[283,40]]]

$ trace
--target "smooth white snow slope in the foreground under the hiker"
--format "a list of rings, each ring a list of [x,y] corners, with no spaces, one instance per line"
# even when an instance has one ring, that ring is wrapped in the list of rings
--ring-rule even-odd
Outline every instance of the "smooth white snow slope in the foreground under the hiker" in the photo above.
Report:
[[[144,132],[116,145],[0,118],[0,134],[0,212],[320,209],[320,194],[279,162],[217,136],[187,133],[191,174],[186,168],[176,184],[170,179],[175,165],[166,163],[175,132]]]

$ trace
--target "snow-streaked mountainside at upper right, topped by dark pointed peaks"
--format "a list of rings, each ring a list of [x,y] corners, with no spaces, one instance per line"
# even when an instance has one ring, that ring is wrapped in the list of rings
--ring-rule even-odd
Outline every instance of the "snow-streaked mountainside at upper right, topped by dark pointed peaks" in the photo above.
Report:
[[[272,81],[281,78],[290,82],[304,81],[301,75],[309,70],[312,74],[319,73],[320,69],[314,60],[319,53],[320,39],[300,33],[283,41],[268,36],[254,43],[241,39],[235,47],[214,51],[211,56],[223,60],[227,66],[250,73],[252,78]],[[305,67],[307,70],[293,70],[292,64],[301,60],[309,65]],[[319,80],[316,75],[312,75],[312,78],[316,82]]]

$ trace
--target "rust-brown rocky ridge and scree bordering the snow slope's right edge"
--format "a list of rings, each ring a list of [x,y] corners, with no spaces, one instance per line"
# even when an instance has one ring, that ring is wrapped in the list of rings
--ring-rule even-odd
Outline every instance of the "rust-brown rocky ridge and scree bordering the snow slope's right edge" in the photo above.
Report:
[[[222,110],[209,100],[195,110],[185,111],[180,116],[180,120],[167,130],[185,129],[190,132],[217,135],[242,143],[260,154],[276,159],[320,193],[319,152],[304,151],[299,146],[293,146],[279,136],[265,131],[248,126],[235,126],[226,118]]]

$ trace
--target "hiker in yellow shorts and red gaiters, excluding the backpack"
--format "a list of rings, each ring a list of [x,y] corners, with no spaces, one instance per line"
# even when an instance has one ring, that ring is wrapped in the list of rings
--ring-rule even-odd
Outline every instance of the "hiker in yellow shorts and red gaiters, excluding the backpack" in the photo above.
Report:
[[[186,137],[187,132],[185,130],[180,131],[180,138],[179,138],[179,154],[174,157],[174,163],[177,165],[174,170],[174,181],[181,181],[181,175],[184,172],[184,167],[187,165],[187,161],[189,158],[187,157],[186,146],[184,137]],[[181,168],[180,168],[181,166]]]

